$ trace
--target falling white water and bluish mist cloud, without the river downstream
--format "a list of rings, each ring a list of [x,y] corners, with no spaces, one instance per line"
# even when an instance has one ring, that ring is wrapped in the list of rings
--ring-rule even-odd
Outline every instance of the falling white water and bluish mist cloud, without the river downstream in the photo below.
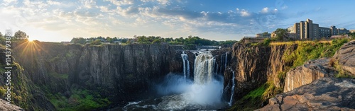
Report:
[[[185,55],[184,53],[182,54],[183,61],[187,60]],[[185,62],[183,66],[187,66]],[[185,69],[187,68],[185,67],[183,75],[168,74],[165,76],[165,80],[156,86],[158,94],[181,95],[174,96],[175,99],[168,100],[164,105],[169,107],[173,107],[170,105],[175,105],[176,107],[177,104],[180,104],[180,107],[187,107],[188,105],[206,106],[222,103],[223,77],[217,76],[214,66],[217,65],[212,54],[200,53],[195,59],[194,81],[186,78]]]

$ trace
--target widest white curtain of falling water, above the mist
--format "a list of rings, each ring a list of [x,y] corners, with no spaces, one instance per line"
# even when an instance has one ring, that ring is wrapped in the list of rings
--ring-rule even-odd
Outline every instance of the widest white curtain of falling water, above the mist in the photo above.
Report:
[[[195,59],[194,83],[204,84],[212,81],[215,59],[212,54],[199,54]]]

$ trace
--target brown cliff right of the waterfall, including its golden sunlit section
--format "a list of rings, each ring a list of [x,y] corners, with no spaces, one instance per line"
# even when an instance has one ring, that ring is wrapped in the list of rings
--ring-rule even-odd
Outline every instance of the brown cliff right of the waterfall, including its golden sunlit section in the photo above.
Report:
[[[233,98],[240,99],[266,81],[272,81],[276,88],[283,88],[283,79],[279,77],[279,74],[289,65],[285,63],[283,56],[287,54],[286,50],[292,52],[296,48],[297,45],[251,46],[235,44],[229,65],[236,74]],[[225,71],[224,87],[231,83],[232,75],[231,71]],[[230,90],[225,94],[230,96]]]

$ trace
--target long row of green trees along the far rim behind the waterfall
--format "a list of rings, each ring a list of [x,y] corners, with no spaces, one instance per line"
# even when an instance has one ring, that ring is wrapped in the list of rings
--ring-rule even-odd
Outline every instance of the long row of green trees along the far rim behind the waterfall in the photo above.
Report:
[[[109,43],[117,43],[117,44],[168,44],[168,45],[185,45],[185,46],[202,46],[202,45],[233,45],[236,40],[226,40],[226,41],[215,41],[215,40],[207,40],[204,38],[200,38],[197,36],[189,36],[189,37],[160,37],[160,36],[135,36],[134,38],[117,38],[117,37],[91,37],[91,38],[83,38],[83,37],[74,37],[70,41],[72,43],[79,44],[92,44],[92,45],[100,45],[102,42]]]

